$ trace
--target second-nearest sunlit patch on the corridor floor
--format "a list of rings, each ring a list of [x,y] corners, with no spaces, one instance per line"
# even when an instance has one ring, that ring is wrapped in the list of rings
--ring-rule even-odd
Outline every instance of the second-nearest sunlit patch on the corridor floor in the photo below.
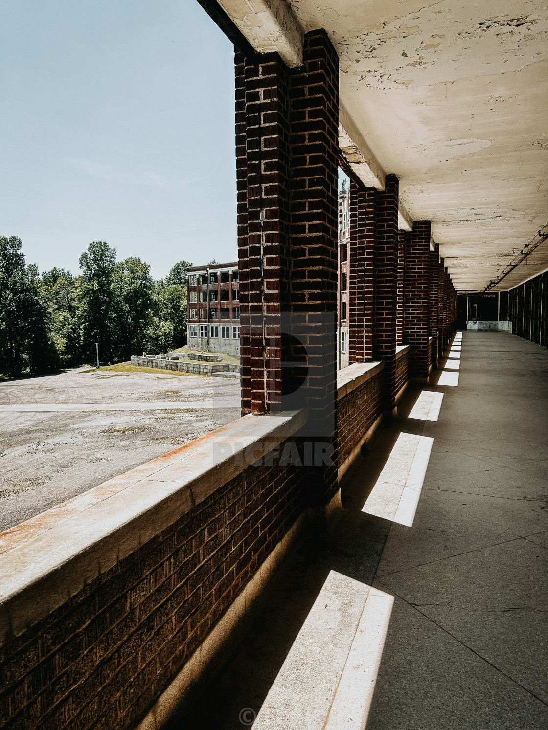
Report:
[[[362,512],[411,527],[434,439],[400,434]]]

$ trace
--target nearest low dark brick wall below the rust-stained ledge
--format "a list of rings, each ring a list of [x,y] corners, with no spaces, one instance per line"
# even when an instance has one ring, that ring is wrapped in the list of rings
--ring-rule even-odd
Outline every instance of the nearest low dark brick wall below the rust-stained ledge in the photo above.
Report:
[[[302,469],[251,466],[0,647],[0,726],[130,729],[303,510]]]

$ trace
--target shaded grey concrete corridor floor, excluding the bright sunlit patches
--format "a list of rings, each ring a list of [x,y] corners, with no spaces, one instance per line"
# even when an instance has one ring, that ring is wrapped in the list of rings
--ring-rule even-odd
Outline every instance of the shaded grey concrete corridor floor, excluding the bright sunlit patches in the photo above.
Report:
[[[248,724],[331,570],[395,596],[368,730],[548,727],[548,350],[465,332],[460,360],[457,386],[408,389],[343,485],[335,529],[292,550],[174,727]],[[407,418],[423,389],[444,393],[437,421]],[[402,431],[433,438],[412,526],[362,512]]]

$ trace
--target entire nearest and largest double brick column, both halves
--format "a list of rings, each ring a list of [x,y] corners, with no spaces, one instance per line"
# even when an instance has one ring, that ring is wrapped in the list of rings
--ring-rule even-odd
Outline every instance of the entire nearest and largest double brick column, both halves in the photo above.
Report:
[[[308,407],[310,439],[334,448],[308,478],[324,501],[337,488],[338,55],[312,31],[298,69],[274,53],[235,61],[242,413]]]

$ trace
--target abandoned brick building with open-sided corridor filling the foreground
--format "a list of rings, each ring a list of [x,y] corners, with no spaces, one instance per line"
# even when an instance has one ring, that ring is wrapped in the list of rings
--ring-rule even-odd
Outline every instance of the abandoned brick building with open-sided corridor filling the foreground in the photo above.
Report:
[[[241,418],[1,536],[0,726],[540,730],[547,9],[199,1]]]

